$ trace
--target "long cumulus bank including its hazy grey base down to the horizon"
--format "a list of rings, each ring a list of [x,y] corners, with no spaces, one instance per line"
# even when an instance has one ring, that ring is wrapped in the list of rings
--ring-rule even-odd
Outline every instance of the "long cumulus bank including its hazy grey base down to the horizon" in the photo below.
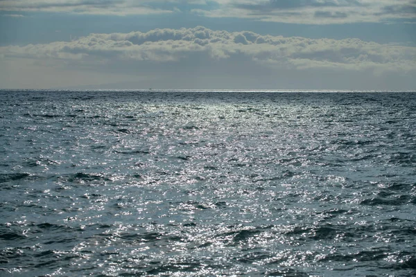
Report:
[[[33,72],[38,76],[35,80]],[[69,78],[73,73],[77,77]],[[371,89],[374,82],[383,82],[376,87],[397,89],[414,87],[415,73],[416,47],[232,33],[202,26],[0,47],[0,83],[8,87],[21,86],[21,80],[33,80],[27,87],[33,82],[48,87],[81,79],[88,84],[87,76],[94,75],[94,84],[141,78],[138,85],[145,88],[214,84],[216,88]],[[26,78],[19,77],[23,74]]]

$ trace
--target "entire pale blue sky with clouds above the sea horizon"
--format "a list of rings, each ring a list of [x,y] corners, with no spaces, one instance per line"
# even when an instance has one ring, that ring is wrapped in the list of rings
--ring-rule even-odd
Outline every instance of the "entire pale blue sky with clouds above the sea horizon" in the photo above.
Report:
[[[0,89],[416,91],[416,0],[0,0]]]

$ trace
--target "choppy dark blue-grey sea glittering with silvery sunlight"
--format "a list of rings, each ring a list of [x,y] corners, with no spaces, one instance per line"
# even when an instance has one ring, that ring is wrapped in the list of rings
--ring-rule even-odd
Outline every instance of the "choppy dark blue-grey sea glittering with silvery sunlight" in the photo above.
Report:
[[[416,93],[0,100],[0,276],[416,274]]]

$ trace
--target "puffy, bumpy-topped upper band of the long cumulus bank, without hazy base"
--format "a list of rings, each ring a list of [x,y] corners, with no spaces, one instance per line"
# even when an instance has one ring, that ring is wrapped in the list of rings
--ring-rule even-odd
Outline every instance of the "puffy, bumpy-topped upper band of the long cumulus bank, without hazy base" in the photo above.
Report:
[[[59,60],[80,64],[106,62],[181,62],[243,59],[262,66],[291,69],[333,68],[354,71],[411,71],[416,48],[359,39],[309,39],[210,30],[204,27],[155,29],[147,33],[91,34],[71,42],[0,47],[3,58]]]

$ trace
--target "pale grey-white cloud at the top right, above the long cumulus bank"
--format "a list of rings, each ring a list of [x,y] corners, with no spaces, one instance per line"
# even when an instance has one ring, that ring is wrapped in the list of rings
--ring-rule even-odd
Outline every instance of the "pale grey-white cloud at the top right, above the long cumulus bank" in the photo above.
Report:
[[[416,19],[413,0],[254,0],[221,1],[216,10],[194,10],[207,17],[241,17],[293,24],[345,24]]]

